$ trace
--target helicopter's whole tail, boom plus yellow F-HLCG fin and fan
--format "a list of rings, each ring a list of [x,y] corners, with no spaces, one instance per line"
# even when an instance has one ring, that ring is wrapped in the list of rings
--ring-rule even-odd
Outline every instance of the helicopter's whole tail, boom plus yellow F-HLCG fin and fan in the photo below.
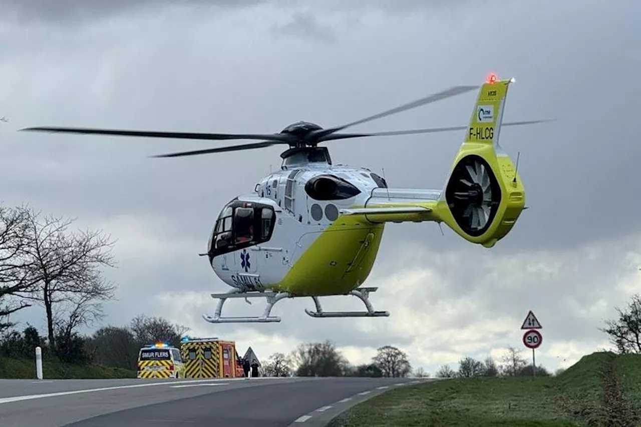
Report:
[[[525,190],[510,157],[499,146],[499,131],[510,80],[481,86],[465,140],[443,190],[375,188],[363,208],[370,222],[445,222],[463,239],[492,247],[512,230],[525,208]]]

